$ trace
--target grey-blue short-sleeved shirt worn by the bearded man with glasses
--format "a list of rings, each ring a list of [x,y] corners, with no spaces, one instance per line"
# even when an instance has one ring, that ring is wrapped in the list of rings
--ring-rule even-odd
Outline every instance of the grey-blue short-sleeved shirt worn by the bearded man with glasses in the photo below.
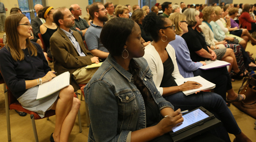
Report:
[[[96,26],[93,24],[93,21],[91,21],[91,26],[87,29],[85,33],[85,41],[89,51],[93,49],[98,49],[105,53],[108,53],[108,50],[103,46],[100,41],[101,30],[101,26]]]

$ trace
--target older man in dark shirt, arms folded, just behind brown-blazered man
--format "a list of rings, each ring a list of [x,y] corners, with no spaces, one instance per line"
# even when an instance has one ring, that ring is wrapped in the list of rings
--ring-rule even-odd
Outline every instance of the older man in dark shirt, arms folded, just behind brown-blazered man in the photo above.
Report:
[[[77,31],[84,40],[85,32],[87,31],[89,25],[85,19],[80,18],[82,15],[82,9],[78,4],[72,4],[70,6],[70,12],[73,14],[75,18],[75,26],[71,27],[73,31]]]

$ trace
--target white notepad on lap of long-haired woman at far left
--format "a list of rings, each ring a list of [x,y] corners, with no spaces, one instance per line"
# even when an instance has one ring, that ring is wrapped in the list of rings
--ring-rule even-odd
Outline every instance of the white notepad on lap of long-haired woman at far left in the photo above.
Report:
[[[39,85],[37,100],[44,99],[68,85],[70,85],[70,72],[67,71],[54,77],[51,81]]]

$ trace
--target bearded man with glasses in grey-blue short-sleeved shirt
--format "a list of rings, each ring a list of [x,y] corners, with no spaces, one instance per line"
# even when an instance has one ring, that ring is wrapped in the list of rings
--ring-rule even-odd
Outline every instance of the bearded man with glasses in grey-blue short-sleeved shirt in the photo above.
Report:
[[[91,51],[94,56],[99,57],[103,61],[109,54],[108,50],[100,41],[100,33],[102,27],[108,20],[107,10],[102,3],[95,2],[89,7],[89,14],[93,21],[85,33],[85,41],[89,51]]]

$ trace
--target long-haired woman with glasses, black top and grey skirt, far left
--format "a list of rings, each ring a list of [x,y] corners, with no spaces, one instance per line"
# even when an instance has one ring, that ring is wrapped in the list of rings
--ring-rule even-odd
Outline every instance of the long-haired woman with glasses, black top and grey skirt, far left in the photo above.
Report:
[[[48,66],[39,44],[31,42],[29,19],[24,14],[11,14],[5,20],[7,44],[0,50],[0,70],[15,98],[27,110],[43,118],[47,110],[55,110],[56,123],[50,141],[68,141],[80,107],[70,85],[37,100],[38,85],[56,77]]]

